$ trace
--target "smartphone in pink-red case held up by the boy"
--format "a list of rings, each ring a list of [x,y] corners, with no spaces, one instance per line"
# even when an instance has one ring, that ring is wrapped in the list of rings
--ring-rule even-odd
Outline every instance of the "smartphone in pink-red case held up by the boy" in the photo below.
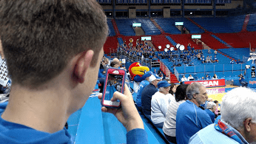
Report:
[[[101,104],[109,108],[120,108],[121,103],[119,100],[111,101],[114,92],[118,91],[124,93],[125,83],[125,69],[109,68],[106,72],[106,80],[104,83],[104,90],[102,94]]]

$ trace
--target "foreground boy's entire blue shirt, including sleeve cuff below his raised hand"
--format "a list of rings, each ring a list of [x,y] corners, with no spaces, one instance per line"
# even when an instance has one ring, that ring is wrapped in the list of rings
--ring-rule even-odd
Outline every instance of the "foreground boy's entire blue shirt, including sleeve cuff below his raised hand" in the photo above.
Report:
[[[38,144],[38,143],[61,143],[73,144],[67,129],[57,131],[53,134],[37,131],[36,129],[10,123],[1,118],[7,103],[0,103],[0,143],[1,144]],[[86,130],[86,128],[84,128]],[[147,134],[144,129],[135,128],[127,133],[127,143],[147,144]]]

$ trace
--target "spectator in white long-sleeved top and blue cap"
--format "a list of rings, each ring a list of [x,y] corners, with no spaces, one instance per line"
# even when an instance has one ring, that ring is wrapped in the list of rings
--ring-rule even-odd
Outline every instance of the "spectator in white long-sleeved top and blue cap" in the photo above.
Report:
[[[175,97],[169,94],[171,84],[166,80],[158,83],[158,92],[152,95],[151,100],[151,120],[158,128],[163,128],[169,102]]]

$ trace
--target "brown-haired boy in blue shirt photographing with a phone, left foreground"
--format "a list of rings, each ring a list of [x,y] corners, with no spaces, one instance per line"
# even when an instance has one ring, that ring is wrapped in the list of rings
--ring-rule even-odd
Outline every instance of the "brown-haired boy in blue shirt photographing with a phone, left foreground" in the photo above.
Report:
[[[108,35],[104,11],[92,0],[19,0],[0,1],[0,12],[13,80],[12,98],[0,104],[0,143],[74,143],[64,126],[95,87]],[[128,87],[112,100],[120,100],[121,109],[101,110],[125,126],[127,143],[147,143]]]

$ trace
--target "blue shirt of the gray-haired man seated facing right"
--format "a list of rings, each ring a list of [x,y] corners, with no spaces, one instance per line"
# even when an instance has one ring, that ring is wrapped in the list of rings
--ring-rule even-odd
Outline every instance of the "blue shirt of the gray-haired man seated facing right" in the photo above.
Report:
[[[181,103],[176,116],[176,139],[179,144],[189,143],[190,137],[202,128],[212,124],[209,115],[201,108],[186,100]]]

